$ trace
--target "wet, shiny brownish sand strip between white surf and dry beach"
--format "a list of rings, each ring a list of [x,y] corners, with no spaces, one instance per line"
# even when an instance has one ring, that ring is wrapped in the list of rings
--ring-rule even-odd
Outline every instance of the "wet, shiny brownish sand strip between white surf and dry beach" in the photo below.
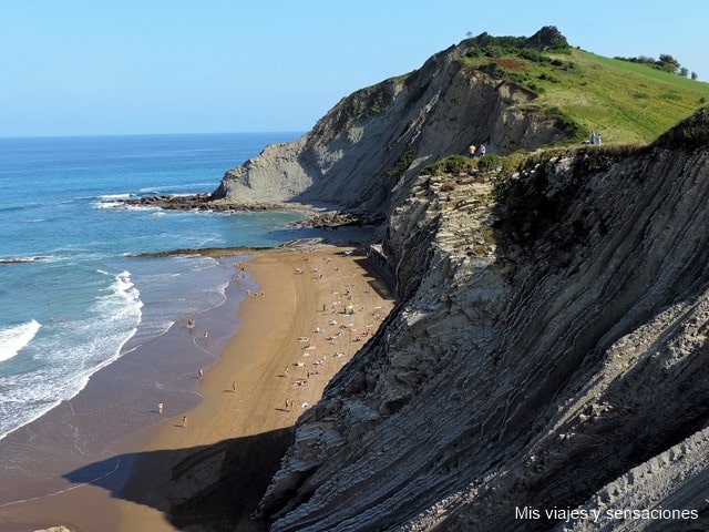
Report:
[[[201,401],[197,369],[218,360],[253,286],[250,279],[243,285],[230,279],[220,305],[195,314],[195,330],[178,319],[93,374],[71,399],[1,440],[0,530],[24,532],[55,522],[71,530],[110,530],[105,523],[117,519],[112,497],[127,478],[132,453],[161,422],[157,402],[165,401],[167,417]],[[197,336],[204,329],[210,331],[208,345]],[[82,513],[78,504],[83,503],[105,515]]]

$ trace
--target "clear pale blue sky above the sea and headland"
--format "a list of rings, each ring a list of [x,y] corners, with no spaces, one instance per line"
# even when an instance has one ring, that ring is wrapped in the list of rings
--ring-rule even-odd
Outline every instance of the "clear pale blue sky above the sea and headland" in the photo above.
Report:
[[[0,136],[305,132],[472,33],[556,25],[709,80],[706,0],[8,0]]]

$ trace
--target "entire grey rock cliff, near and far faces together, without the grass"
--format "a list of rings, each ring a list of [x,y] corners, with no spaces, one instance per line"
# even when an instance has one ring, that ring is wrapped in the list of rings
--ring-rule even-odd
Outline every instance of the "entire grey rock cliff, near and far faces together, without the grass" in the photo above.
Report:
[[[343,99],[209,198],[381,219],[399,297],[299,419],[255,516],[277,532],[706,529],[709,110],[649,146],[552,150],[578,123],[492,63],[471,68],[486,42]],[[640,103],[619,114],[637,123]],[[515,153],[514,171],[429,167],[481,142],[545,147]],[[657,509],[690,513],[606,513]]]

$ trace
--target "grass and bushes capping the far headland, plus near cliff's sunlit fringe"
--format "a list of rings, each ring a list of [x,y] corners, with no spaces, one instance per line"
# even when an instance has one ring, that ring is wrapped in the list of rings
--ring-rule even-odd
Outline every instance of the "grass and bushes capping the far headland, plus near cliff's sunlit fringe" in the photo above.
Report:
[[[463,44],[471,47],[461,59],[465,69],[536,92],[534,103],[525,109],[575,124],[576,137],[561,143],[558,150],[546,146],[545,160],[568,154],[568,149],[580,146],[592,131],[603,135],[605,149],[599,155],[605,156],[615,152],[609,152],[608,145],[625,151],[650,143],[674,147],[709,144],[709,108],[703,106],[709,101],[709,83],[687,79],[677,69],[573,49],[553,27],[532,38],[482,33]],[[527,166],[530,161],[540,162],[523,152],[504,157],[491,153],[475,158],[451,155],[430,164],[423,173],[508,172]]]

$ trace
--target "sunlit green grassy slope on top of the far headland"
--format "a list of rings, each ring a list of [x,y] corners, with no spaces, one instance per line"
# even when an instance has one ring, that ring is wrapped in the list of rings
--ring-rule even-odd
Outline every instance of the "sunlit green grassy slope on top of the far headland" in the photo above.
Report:
[[[543,55],[553,62],[532,61],[514,50],[462,62],[536,92],[538,98],[527,106],[574,122],[574,143],[596,131],[604,143],[647,144],[709,101],[708,83],[644,64],[576,49]]]

